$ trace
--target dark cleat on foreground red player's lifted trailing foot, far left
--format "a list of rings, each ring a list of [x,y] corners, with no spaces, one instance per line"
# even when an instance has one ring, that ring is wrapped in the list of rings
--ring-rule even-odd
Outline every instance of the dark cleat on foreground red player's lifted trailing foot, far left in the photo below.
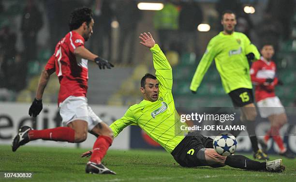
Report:
[[[14,137],[13,143],[12,143],[12,150],[13,152],[16,151],[17,148],[19,148],[22,145],[25,145],[30,141],[29,139],[29,131],[32,130],[29,126],[22,126],[18,130],[18,134]]]

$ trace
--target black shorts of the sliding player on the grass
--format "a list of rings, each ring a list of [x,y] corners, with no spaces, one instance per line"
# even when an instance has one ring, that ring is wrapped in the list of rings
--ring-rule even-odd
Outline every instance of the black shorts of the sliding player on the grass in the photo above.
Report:
[[[185,136],[171,154],[182,167],[221,167],[220,165],[207,164],[205,148],[213,148],[213,139],[197,133],[191,133]]]

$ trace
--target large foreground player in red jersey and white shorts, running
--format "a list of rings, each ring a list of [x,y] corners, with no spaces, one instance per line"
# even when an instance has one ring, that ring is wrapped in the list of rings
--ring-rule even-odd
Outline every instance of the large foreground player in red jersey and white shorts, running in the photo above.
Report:
[[[87,173],[115,174],[101,164],[104,155],[113,141],[111,128],[104,123],[88,106],[88,60],[98,64],[100,69],[110,69],[113,65],[91,53],[84,47],[89,39],[94,21],[89,8],[77,8],[70,16],[70,32],[56,45],[55,53],[48,60],[39,80],[36,97],[29,109],[29,115],[36,117],[42,110],[42,96],[50,75],[56,72],[59,77],[59,113],[62,127],[33,130],[22,126],[12,144],[13,152],[18,147],[36,139],[83,142],[88,131],[97,136],[93,154],[86,167]]]

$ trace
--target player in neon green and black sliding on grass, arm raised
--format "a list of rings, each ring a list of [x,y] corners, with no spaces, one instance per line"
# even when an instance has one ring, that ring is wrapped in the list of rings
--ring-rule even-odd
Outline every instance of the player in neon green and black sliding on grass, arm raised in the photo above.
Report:
[[[141,44],[150,48],[153,54],[153,64],[156,76],[146,74],[141,79],[140,91],[144,100],[131,106],[124,116],[114,121],[110,128],[114,137],[129,125],[138,125],[153,140],[170,152],[182,167],[223,167],[225,165],[250,170],[281,172],[284,167],[282,160],[269,162],[253,161],[243,155],[219,155],[213,149],[213,139],[198,133],[185,136],[172,95],[172,68],[160,47],[155,44],[152,35],[141,33]],[[89,156],[91,151],[81,156]]]

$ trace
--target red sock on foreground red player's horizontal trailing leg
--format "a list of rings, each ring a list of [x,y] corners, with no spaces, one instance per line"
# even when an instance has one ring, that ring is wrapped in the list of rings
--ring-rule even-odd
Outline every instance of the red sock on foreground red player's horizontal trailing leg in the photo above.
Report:
[[[57,127],[45,130],[29,131],[30,140],[43,139],[74,142],[75,131],[69,127]]]

